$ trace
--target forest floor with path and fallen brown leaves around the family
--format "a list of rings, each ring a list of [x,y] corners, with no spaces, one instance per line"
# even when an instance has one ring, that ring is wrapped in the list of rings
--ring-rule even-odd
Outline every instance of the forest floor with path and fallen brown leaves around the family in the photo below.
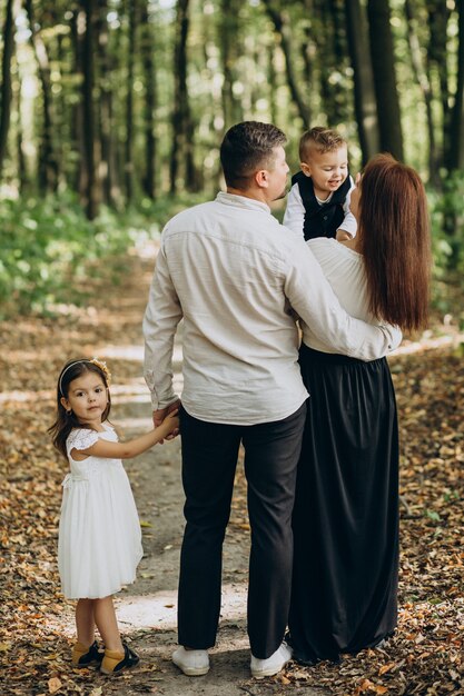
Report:
[[[155,253],[155,252],[154,252]],[[246,584],[249,527],[238,467],[225,544],[224,603],[208,675],[171,664],[182,535],[179,438],[128,463],[144,533],[137,581],[117,610],[139,666],[107,678],[70,663],[72,603],[56,560],[61,480],[67,464],[47,436],[56,377],[72,357],[98,356],[112,372],[111,420],[124,437],[150,427],[141,377],[141,318],[152,258],[130,258],[119,287],[100,278],[85,308],[53,319],[4,322],[0,356],[0,694],[164,696],[328,696],[464,694],[464,337],[456,317],[434,317],[421,341],[405,341],[391,367],[401,424],[399,623],[383,649],[338,666],[290,664],[249,676]],[[460,311],[462,308],[460,307]],[[176,352],[179,387],[180,348]]]

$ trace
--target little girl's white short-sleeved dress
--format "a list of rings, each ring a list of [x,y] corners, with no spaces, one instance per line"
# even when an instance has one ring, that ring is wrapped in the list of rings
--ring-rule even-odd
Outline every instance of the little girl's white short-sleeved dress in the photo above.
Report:
[[[141,530],[129,479],[120,459],[87,457],[75,461],[72,449],[87,449],[105,431],[75,428],[66,443],[71,468],[63,480],[58,540],[61,587],[70,599],[97,599],[134,583],[142,556]]]

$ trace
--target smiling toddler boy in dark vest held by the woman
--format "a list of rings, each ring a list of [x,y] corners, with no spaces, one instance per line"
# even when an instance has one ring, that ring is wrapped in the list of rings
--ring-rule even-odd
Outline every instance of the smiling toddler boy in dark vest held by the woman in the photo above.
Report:
[[[302,170],[292,177],[284,225],[305,239],[356,236],[357,222],[349,211],[355,187],[348,173],[346,140],[328,128],[315,127],[299,141]]]

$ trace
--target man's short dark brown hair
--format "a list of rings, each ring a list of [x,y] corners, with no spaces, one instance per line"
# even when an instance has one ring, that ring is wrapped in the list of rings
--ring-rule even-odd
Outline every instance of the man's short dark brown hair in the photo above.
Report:
[[[286,142],[285,133],[272,123],[243,121],[229,128],[220,146],[220,163],[227,186],[248,188],[250,177],[273,163],[274,148]]]

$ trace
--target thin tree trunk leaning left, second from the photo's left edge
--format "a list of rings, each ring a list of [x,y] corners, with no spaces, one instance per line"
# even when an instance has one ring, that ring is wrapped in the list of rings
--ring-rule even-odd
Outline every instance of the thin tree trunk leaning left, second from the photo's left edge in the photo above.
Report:
[[[55,157],[52,133],[56,125],[52,117],[50,61],[42,37],[37,31],[32,0],[24,0],[29,19],[32,48],[38,64],[38,73],[42,86],[43,131],[39,148],[39,188],[42,192],[56,191],[58,187],[58,162]]]

